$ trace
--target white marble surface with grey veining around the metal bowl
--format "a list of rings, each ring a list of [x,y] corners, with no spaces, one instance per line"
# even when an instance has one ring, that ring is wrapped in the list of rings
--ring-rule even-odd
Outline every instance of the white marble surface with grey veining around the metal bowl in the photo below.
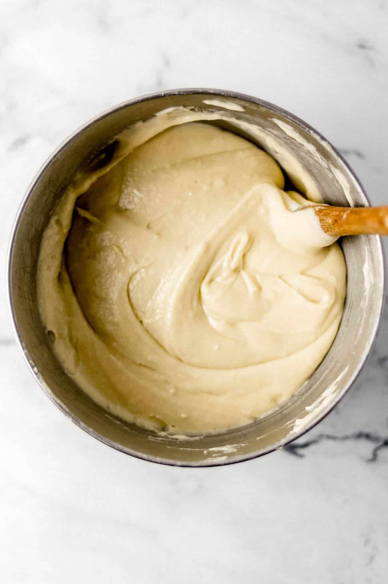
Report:
[[[3,265],[51,151],[95,114],[158,89],[276,103],[387,203],[387,30],[383,0],[3,0]],[[1,582],[387,582],[387,309],[361,377],[316,429],[258,460],[191,470],[126,457],[65,419],[15,344],[4,281],[0,294]]]

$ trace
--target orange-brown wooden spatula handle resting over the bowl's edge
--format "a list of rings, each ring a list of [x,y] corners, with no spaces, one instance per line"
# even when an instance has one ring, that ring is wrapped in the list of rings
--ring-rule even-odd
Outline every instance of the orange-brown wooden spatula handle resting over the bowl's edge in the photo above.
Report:
[[[388,235],[388,206],[386,207],[314,207],[321,228],[328,235],[376,234]]]

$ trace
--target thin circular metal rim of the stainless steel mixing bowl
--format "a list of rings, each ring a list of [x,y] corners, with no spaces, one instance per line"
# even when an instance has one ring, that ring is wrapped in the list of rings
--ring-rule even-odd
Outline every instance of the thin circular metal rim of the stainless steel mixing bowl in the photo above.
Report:
[[[265,100],[255,98],[254,96],[251,96],[251,95],[246,95],[244,93],[239,93],[239,92],[234,92],[234,91],[228,91],[227,89],[209,89],[209,88],[169,89],[168,91],[158,91],[158,92],[153,92],[153,93],[147,93],[145,95],[141,95],[141,96],[138,96],[136,98],[126,100],[125,102],[121,102],[121,103],[117,104],[116,106],[113,106],[107,110],[104,110],[103,112],[99,113],[98,115],[96,115],[92,119],[86,121],[86,123],[82,124],[82,126],[79,126],[77,128],[77,130],[75,130],[72,134],[70,134],[67,138],[65,138],[65,140],[63,142],[61,142],[60,145],[58,145],[56,150],[54,150],[54,152],[46,159],[46,161],[43,163],[43,165],[41,165],[40,169],[37,171],[36,175],[34,176],[32,181],[30,182],[29,186],[27,187],[26,193],[23,196],[22,201],[20,202],[18,211],[16,213],[15,220],[13,221],[11,235],[9,238],[7,257],[6,257],[6,289],[7,289],[7,296],[8,296],[8,307],[9,307],[9,311],[11,313],[11,321],[12,321],[13,331],[15,333],[16,341],[20,347],[20,350],[22,351],[22,354],[23,354],[23,357],[25,358],[27,366],[29,367],[29,370],[32,373],[34,379],[40,385],[40,387],[44,391],[44,393],[51,399],[51,401],[54,402],[54,404],[61,410],[61,412],[63,412],[65,414],[65,416],[70,418],[71,421],[75,423],[75,425],[77,425],[79,428],[84,430],[86,433],[90,434],[93,438],[99,440],[99,442],[106,444],[106,446],[110,446],[115,450],[118,450],[124,454],[129,454],[130,456],[132,456],[134,458],[139,458],[140,460],[144,460],[144,461],[148,461],[148,462],[152,462],[152,463],[156,463],[156,464],[172,466],[172,467],[185,467],[185,468],[219,467],[219,466],[226,466],[226,465],[230,465],[230,464],[236,464],[236,463],[240,463],[240,462],[247,461],[247,460],[253,460],[254,458],[259,458],[261,456],[264,456],[264,454],[268,454],[268,453],[273,452],[275,450],[279,450],[283,446],[287,446],[287,444],[290,444],[294,440],[299,439],[304,434],[309,432],[309,430],[311,430],[314,426],[316,426],[318,423],[320,423],[321,420],[323,420],[332,411],[332,409],[334,409],[334,407],[338,404],[338,402],[344,397],[344,395],[347,393],[347,391],[354,384],[356,378],[358,378],[359,374],[361,373],[361,370],[362,370],[363,366],[365,365],[365,361],[368,358],[370,351],[372,350],[373,343],[376,340],[377,332],[379,331],[379,328],[380,328],[380,324],[382,321],[382,313],[383,313],[383,308],[384,308],[385,292],[386,292],[385,254],[384,254],[384,248],[383,248],[383,244],[382,244],[382,238],[377,237],[376,241],[377,241],[377,247],[378,247],[378,251],[379,251],[379,260],[380,260],[380,265],[382,266],[382,288],[381,288],[380,297],[378,299],[379,305],[377,307],[377,318],[376,318],[375,324],[373,326],[369,342],[366,344],[365,349],[363,350],[363,354],[361,356],[361,359],[359,360],[357,367],[355,368],[354,372],[352,373],[352,376],[349,378],[349,380],[347,381],[347,384],[345,384],[344,388],[342,388],[342,390],[340,392],[338,392],[338,395],[335,397],[334,402],[332,402],[326,408],[323,408],[318,413],[317,418],[314,420],[311,420],[311,422],[307,423],[306,426],[304,426],[300,432],[297,432],[295,434],[289,433],[289,436],[287,436],[286,439],[280,440],[279,442],[272,444],[272,446],[268,446],[265,449],[257,450],[253,453],[241,454],[240,456],[239,455],[233,456],[233,457],[228,458],[228,460],[221,460],[221,461],[202,460],[202,461],[195,461],[193,463],[190,463],[189,461],[182,461],[181,462],[181,461],[171,460],[168,458],[161,458],[161,457],[157,457],[157,456],[149,456],[146,454],[141,454],[137,450],[133,450],[133,449],[127,448],[125,446],[122,446],[122,444],[114,442],[113,440],[110,440],[109,438],[103,436],[103,434],[100,434],[99,432],[96,432],[96,430],[93,430],[91,427],[89,427],[84,422],[82,422],[81,419],[79,419],[69,408],[67,408],[67,406],[65,406],[63,404],[63,402],[61,402],[60,399],[58,399],[56,397],[56,395],[54,395],[54,393],[51,391],[51,389],[48,387],[48,385],[44,382],[43,377],[40,376],[40,373],[37,370],[37,367],[34,365],[33,360],[30,359],[29,352],[28,352],[25,344],[23,343],[22,336],[21,336],[19,329],[18,329],[18,324],[16,322],[15,308],[13,305],[12,273],[11,273],[13,248],[14,248],[14,244],[15,244],[15,240],[16,240],[16,235],[18,233],[19,223],[22,219],[23,212],[25,210],[27,201],[29,200],[30,194],[32,193],[32,191],[33,191],[34,187],[37,185],[37,183],[39,183],[41,176],[43,176],[43,174],[47,171],[47,169],[52,164],[54,159],[56,159],[58,157],[58,155],[61,154],[61,152],[64,150],[64,148],[68,144],[70,144],[70,142],[75,140],[78,137],[78,135],[80,135],[84,130],[86,130],[86,128],[91,127],[93,124],[95,124],[99,120],[102,120],[103,118],[108,117],[108,116],[110,116],[110,114],[115,113],[119,110],[125,109],[126,107],[136,105],[137,103],[146,102],[146,101],[151,100],[151,99],[159,99],[159,98],[163,98],[165,96],[175,96],[175,95],[185,96],[185,95],[198,95],[198,94],[214,96],[216,98],[228,98],[231,100],[237,99],[237,100],[242,100],[245,102],[254,103],[255,105],[264,107],[266,110],[269,110],[269,112],[279,114],[279,115],[283,116],[285,119],[292,121],[297,126],[301,127],[304,131],[306,131],[308,134],[313,135],[313,137],[318,137],[320,139],[320,141],[323,142],[328,147],[330,147],[331,150],[334,152],[334,154],[339,158],[339,160],[342,162],[342,164],[347,169],[348,173],[355,180],[356,185],[359,187],[359,189],[362,192],[363,197],[365,197],[365,200],[367,201],[368,205],[370,206],[369,197],[366,194],[365,189],[364,189],[361,181],[359,180],[358,176],[356,175],[354,170],[351,168],[351,166],[348,164],[348,162],[344,159],[344,157],[341,155],[341,153],[337,150],[337,148],[335,148],[331,144],[331,142],[327,140],[327,138],[325,138],[322,134],[320,134],[320,132],[318,132],[315,128],[310,126],[310,124],[308,124],[306,121],[300,119],[299,117],[288,112],[287,110],[283,109],[282,107],[276,106],[271,102],[267,102]]]

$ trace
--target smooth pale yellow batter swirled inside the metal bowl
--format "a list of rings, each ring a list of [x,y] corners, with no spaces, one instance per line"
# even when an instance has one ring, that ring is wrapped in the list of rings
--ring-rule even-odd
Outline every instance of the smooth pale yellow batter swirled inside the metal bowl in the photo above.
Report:
[[[124,419],[186,434],[290,398],[334,339],[346,280],[273,158],[193,118],[136,124],[79,175],[38,273],[41,318],[76,383]]]

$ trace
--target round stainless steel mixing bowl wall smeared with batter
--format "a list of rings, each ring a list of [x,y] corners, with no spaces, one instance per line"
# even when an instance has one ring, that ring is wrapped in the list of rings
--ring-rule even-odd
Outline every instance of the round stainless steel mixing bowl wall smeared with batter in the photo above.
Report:
[[[213,103],[204,103],[204,101]],[[167,107],[223,110],[261,127],[294,152],[316,180],[325,202],[367,206],[368,198],[341,155],[313,128],[262,100],[228,91],[183,89],[123,103],[77,130],[33,180],[13,228],[8,259],[9,301],[16,336],[48,397],[101,442],[144,460],[206,467],[261,456],[302,435],[349,389],[368,356],[382,313],[384,259],[379,237],[342,241],[348,269],[347,299],[337,337],[309,381],[278,411],[228,432],[177,440],[123,422],[96,405],[65,373],[53,353],[37,310],[36,266],[41,235],[58,199],[91,157],[124,128]],[[239,111],[241,110],[241,111]],[[286,125],[285,125],[286,124]],[[239,130],[234,128],[239,133]],[[246,135],[246,133],[244,134]],[[259,143],[254,136],[252,141]]]

